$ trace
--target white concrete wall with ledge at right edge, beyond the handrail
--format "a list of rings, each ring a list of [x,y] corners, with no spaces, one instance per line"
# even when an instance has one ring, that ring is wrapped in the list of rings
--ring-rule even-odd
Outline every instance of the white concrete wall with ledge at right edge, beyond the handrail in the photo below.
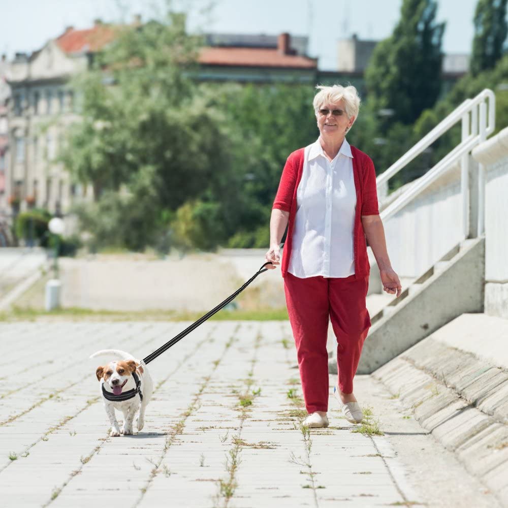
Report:
[[[508,318],[508,128],[472,155],[485,167],[485,313]]]

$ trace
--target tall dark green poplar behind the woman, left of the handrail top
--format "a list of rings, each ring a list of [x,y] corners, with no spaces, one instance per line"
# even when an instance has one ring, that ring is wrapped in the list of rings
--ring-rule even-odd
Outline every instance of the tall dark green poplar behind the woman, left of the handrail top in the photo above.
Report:
[[[403,0],[391,37],[380,42],[365,72],[369,102],[393,113],[390,122],[414,122],[432,107],[441,89],[444,23],[436,23],[437,2]]]

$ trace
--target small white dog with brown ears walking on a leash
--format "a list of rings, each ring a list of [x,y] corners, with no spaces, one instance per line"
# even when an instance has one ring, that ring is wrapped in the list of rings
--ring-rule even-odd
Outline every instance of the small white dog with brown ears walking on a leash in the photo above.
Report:
[[[138,432],[143,428],[145,424],[145,409],[153,392],[153,382],[148,369],[145,366],[141,366],[139,360],[135,360],[132,355],[125,353],[120,350],[101,350],[97,353],[93,353],[90,358],[94,358],[100,355],[113,355],[119,358],[119,361],[112,361],[106,365],[97,367],[96,375],[97,379],[101,382],[101,395],[104,400],[104,407],[106,408],[106,414],[111,422],[111,433],[112,437],[117,437],[120,434],[124,436],[133,433],[133,420],[136,410],[139,407],[138,419],[136,427]],[[125,394],[129,390],[136,389],[136,380],[134,379],[133,373],[139,378],[140,385],[139,391],[141,391],[141,397],[139,393],[128,400],[113,401],[108,400],[106,394],[112,396],[119,396]],[[123,428],[120,430],[118,422],[115,417],[115,409],[118,409],[123,413]]]

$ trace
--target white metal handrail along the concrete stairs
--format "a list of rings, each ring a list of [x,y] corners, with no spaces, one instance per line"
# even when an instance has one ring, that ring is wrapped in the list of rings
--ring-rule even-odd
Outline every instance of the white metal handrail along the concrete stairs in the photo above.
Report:
[[[488,101],[488,114],[487,114]],[[435,126],[414,147],[408,150],[395,164],[390,166],[384,173],[376,178],[377,192],[381,199],[386,196],[388,180],[402,170],[415,157],[422,153],[435,140],[448,132],[455,124],[461,122],[461,142],[453,148],[432,169],[401,194],[393,203],[382,211],[381,217],[388,219],[403,208],[412,199],[437,180],[444,172],[455,164],[461,164],[461,193],[463,196],[463,237],[466,238],[469,230],[469,182],[468,163],[469,152],[477,145],[485,141],[488,135],[495,129],[495,95],[488,88],[480,92],[474,99],[466,99],[450,115]],[[479,165],[478,174],[478,225],[477,235],[484,232],[484,203],[485,203],[485,178],[483,165]]]

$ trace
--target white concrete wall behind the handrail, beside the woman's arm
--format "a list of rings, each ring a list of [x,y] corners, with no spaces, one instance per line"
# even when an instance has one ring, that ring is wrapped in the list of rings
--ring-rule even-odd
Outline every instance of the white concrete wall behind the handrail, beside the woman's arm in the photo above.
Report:
[[[408,185],[411,185],[408,184]],[[386,207],[407,186],[384,200]],[[400,277],[419,277],[464,239],[460,169],[451,169],[384,223],[388,253]]]

